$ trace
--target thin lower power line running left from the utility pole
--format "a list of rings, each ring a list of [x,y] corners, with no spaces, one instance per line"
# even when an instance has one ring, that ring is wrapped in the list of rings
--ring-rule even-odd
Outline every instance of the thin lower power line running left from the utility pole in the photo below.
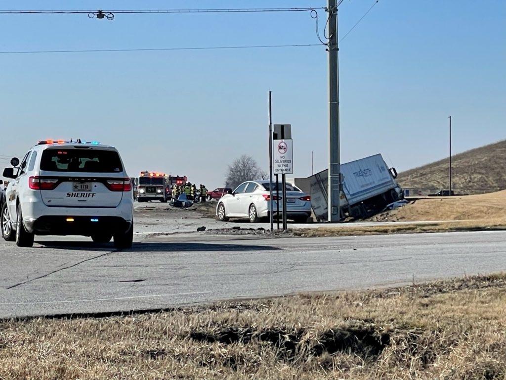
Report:
[[[304,45],[250,45],[250,46],[209,46],[188,48],[152,48],[152,49],[86,49],[86,50],[30,50],[30,51],[0,51],[0,54],[50,54],[50,53],[103,53],[103,52],[153,52],[176,50],[218,50],[218,49],[267,49],[267,48],[306,48],[321,46],[320,44]]]

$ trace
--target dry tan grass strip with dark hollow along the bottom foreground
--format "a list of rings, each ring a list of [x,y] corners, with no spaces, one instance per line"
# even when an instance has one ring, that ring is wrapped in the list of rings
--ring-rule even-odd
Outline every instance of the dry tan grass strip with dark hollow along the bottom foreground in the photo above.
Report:
[[[504,379],[506,275],[0,322],[2,379]]]

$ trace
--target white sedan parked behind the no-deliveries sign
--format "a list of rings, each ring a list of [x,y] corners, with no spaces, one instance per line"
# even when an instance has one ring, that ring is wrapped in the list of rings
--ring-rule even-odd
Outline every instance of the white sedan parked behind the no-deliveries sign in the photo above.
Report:
[[[229,218],[249,219],[251,223],[267,221],[272,204],[273,216],[277,217],[277,201],[279,200],[279,217],[282,216],[282,185],[273,183],[273,199],[270,199],[269,181],[246,181],[233,192],[225,194],[216,207],[216,217],[221,221]],[[300,188],[286,183],[286,218],[296,223],[305,223],[311,216],[311,197]]]

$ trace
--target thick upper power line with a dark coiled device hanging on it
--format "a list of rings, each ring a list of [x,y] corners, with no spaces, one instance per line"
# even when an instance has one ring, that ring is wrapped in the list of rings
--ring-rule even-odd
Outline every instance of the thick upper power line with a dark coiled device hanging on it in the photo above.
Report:
[[[102,11],[107,13],[251,13],[251,12],[310,12],[324,7],[306,8],[216,8],[216,9],[119,9]],[[0,10],[0,14],[89,14],[96,10]]]

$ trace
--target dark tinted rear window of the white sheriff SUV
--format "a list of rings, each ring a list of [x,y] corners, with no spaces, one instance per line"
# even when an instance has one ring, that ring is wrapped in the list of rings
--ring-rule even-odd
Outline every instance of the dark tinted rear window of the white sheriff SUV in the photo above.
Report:
[[[40,159],[40,169],[83,173],[119,173],[123,171],[121,160],[116,151],[100,149],[46,149]]]

